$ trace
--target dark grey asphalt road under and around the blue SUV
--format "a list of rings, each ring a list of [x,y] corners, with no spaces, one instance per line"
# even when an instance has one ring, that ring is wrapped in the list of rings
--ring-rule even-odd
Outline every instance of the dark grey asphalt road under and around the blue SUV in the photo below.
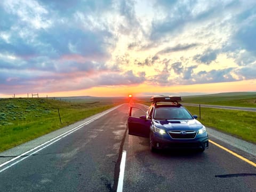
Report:
[[[127,134],[128,110],[122,105],[1,153],[0,191],[115,191],[123,150],[123,191],[256,191],[256,167],[212,143],[203,153],[151,153],[148,139]]]

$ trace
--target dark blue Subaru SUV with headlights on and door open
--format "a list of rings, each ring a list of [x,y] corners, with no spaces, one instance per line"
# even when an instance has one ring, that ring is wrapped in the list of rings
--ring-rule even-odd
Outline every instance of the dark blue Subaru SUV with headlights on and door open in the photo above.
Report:
[[[181,97],[155,96],[145,115],[134,117],[130,107],[128,118],[129,134],[150,139],[150,149],[191,148],[204,151],[208,148],[208,135],[205,126],[196,120],[196,115],[179,102]],[[143,111],[143,110],[142,110]]]

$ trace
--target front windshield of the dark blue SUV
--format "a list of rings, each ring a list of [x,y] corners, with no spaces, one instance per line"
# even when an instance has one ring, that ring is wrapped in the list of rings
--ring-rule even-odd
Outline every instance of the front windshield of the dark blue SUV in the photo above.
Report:
[[[155,110],[155,119],[193,119],[183,107],[159,107]]]

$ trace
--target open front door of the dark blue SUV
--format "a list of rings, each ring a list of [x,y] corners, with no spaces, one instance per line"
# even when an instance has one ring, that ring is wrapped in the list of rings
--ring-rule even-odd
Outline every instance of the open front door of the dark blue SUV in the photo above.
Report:
[[[145,115],[139,117],[132,116],[132,110],[134,108],[140,109],[138,107],[130,108],[130,113],[128,117],[128,132],[130,135],[149,138],[151,119],[147,119]]]

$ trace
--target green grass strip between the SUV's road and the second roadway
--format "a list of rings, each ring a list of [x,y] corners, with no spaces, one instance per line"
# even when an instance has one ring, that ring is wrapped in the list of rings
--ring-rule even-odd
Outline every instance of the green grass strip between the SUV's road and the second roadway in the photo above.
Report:
[[[199,119],[199,107],[185,107],[191,114],[198,115],[198,120],[205,126],[256,143],[255,112],[201,107],[201,119]]]

